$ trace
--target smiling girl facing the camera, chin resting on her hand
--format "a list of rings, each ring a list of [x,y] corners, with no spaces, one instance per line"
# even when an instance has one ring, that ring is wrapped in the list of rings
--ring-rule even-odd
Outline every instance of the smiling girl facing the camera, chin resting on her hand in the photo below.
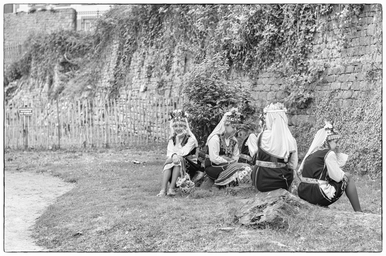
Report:
[[[176,181],[179,176],[186,173],[193,177],[200,166],[197,165],[196,137],[191,133],[188,125],[188,115],[183,110],[170,112],[170,136],[164,169],[162,172],[161,191],[157,196],[174,196],[176,194]],[[168,193],[166,188],[170,181]]]

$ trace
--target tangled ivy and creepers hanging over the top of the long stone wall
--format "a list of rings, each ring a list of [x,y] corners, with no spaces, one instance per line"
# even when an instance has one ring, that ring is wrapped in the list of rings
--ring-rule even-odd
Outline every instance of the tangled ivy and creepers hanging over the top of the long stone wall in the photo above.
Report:
[[[282,89],[288,93],[286,100],[305,108],[314,99],[310,85],[317,82],[318,75],[328,65],[317,62],[316,58],[306,59],[313,51],[314,33],[328,30],[326,15],[332,20],[338,19],[333,31],[342,38],[337,47],[341,50],[347,40],[344,32],[349,29],[350,17],[361,7],[356,4],[115,5],[98,20],[92,35],[82,37],[64,31],[47,35],[45,39],[35,39],[41,47],[30,48],[28,55],[32,62],[41,61],[38,63],[42,65],[34,64],[34,69],[49,81],[50,67],[54,67],[64,53],[68,58],[72,57],[69,55],[97,55],[85,58],[88,60],[85,66],[96,70],[94,73],[80,69],[76,74],[95,77],[101,71],[97,63],[115,51],[118,56],[109,90],[110,94],[117,95],[120,88],[130,82],[126,71],[132,65],[135,52],[142,56],[144,63],[139,66],[149,78],[162,78],[170,73],[175,59],[185,65],[184,60],[200,62],[204,57],[220,53],[232,68],[252,78],[265,69],[281,74],[285,80]],[[45,54],[41,54],[42,49],[46,50]],[[15,77],[7,76],[9,81]],[[87,86],[94,87],[95,83],[85,81],[84,85],[82,89],[87,90]]]

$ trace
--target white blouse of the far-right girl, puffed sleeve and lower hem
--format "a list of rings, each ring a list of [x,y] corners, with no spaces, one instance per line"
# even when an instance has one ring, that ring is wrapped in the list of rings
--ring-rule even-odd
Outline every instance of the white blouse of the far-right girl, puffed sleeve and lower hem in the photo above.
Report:
[[[325,163],[327,167],[327,174],[328,176],[336,181],[340,182],[343,180],[344,171],[340,169],[340,167],[343,167],[346,164],[347,158],[349,155],[344,153],[338,153],[335,154],[334,151],[329,151],[325,157]],[[323,192],[327,195],[329,199],[334,197],[335,195],[335,188],[334,186],[330,185],[328,181],[325,180],[318,180],[320,188],[323,190]]]

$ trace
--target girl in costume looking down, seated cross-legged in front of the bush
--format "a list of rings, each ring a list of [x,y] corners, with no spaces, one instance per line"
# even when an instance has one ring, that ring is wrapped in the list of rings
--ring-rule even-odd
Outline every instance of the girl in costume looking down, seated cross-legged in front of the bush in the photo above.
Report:
[[[210,190],[219,190],[219,186],[227,185],[240,175],[251,171],[251,167],[245,163],[237,163],[239,160],[239,147],[234,137],[240,122],[240,113],[237,108],[232,108],[225,113],[220,123],[208,136],[207,152],[205,155],[205,173],[214,180]],[[238,172],[238,171],[241,172]],[[244,172],[245,171],[245,172]]]

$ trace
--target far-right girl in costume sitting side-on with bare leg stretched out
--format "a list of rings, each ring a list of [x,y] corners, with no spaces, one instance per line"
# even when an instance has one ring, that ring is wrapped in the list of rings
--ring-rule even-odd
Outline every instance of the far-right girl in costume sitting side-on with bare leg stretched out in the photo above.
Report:
[[[317,131],[298,170],[301,181],[298,195],[309,203],[328,206],[345,191],[354,211],[362,212],[352,176],[340,169],[348,158],[340,152],[340,138],[333,122],[326,122],[324,128]]]

